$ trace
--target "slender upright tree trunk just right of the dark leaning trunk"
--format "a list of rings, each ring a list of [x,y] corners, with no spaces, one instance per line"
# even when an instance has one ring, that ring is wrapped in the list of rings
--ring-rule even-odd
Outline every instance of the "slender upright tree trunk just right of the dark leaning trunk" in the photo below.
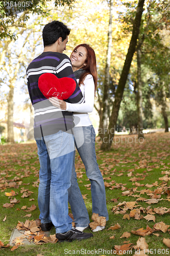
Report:
[[[137,116],[138,116],[138,139],[143,138],[143,120],[142,120],[142,81],[141,81],[141,49],[137,49]]]

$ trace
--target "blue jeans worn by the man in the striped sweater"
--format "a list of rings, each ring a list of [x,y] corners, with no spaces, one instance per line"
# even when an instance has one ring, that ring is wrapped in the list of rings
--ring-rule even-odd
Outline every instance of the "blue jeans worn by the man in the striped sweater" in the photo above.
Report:
[[[59,131],[36,139],[40,162],[38,206],[41,223],[53,222],[56,233],[72,227],[68,216],[68,188],[75,152],[74,136]]]

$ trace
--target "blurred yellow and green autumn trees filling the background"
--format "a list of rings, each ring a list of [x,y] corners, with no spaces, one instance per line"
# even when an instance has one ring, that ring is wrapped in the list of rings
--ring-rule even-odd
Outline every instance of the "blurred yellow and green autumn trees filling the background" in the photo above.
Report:
[[[99,116],[98,122],[94,120],[96,131],[102,131],[101,134],[104,135],[102,129],[105,127],[108,135],[109,129],[115,126],[115,132],[128,130],[134,133],[147,128],[164,128],[165,132],[168,132],[168,1],[58,0],[32,3],[34,5],[31,8],[19,14],[6,16],[7,10],[4,8],[1,11],[3,19],[0,24],[0,124],[3,126],[3,122],[7,122],[9,142],[16,141],[13,135],[14,122],[21,120],[28,124],[28,131],[32,129],[26,68],[31,60],[43,51],[42,29],[54,19],[62,21],[71,29],[65,54],[70,56],[72,49],[84,42],[95,51],[98,63],[98,90],[94,109]],[[142,3],[144,5],[139,35],[130,69],[125,68],[126,75],[122,77],[125,86],[119,92],[120,77],[130,46],[137,6]],[[118,94],[121,95],[117,108],[115,100]],[[138,133],[138,137],[143,137],[143,133]],[[106,143],[102,149],[108,149]]]

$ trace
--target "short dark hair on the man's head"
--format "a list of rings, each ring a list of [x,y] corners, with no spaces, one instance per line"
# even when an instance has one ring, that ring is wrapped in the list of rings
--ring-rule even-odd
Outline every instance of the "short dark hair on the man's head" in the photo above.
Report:
[[[62,37],[62,41],[64,41],[69,33],[70,29],[58,20],[46,24],[42,30],[44,47],[53,45],[59,37]]]

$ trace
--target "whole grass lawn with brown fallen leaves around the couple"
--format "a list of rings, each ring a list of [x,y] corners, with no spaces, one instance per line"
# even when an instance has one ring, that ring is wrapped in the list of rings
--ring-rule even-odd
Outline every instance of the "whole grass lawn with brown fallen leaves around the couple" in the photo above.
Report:
[[[110,256],[118,253],[117,248],[123,248],[122,255],[144,255],[139,254],[139,250],[134,248],[132,251],[127,250],[127,244],[131,248],[137,244],[139,238],[145,238],[145,243],[148,244],[150,253],[145,249],[146,255],[169,254],[170,245],[168,247],[163,243],[163,239],[164,241],[170,239],[170,226],[167,226],[170,225],[169,137],[169,133],[147,134],[144,142],[138,142],[135,135],[116,136],[111,151],[105,153],[100,151],[100,142],[96,143],[96,155],[106,186],[109,221],[103,231],[93,233],[93,238],[72,243],[22,245],[13,251],[11,251],[12,246],[8,248],[0,246],[0,255]],[[25,223],[26,220],[39,218],[37,202],[39,160],[35,143],[1,145],[0,151],[0,241],[7,245],[18,221]],[[91,217],[91,191],[85,186],[90,182],[87,180],[84,165],[78,154],[76,170],[82,194],[87,194],[87,199],[84,200]],[[5,194],[11,193],[11,190],[15,192],[14,196]],[[12,207],[3,207],[4,204],[9,204],[10,200],[13,200]],[[36,209],[31,211],[32,205],[35,205]],[[31,216],[25,217],[27,214]],[[120,226],[118,229],[109,229],[117,223]],[[147,233],[143,231],[147,229],[147,225],[151,232],[142,237],[143,233]],[[139,230],[140,236],[132,231],[140,228],[143,228]],[[91,229],[87,229],[87,232],[91,232]],[[55,228],[51,230],[51,234],[54,233]],[[120,238],[124,233],[127,237]],[[110,239],[110,237],[114,238]],[[142,246],[138,248],[141,250]]]

